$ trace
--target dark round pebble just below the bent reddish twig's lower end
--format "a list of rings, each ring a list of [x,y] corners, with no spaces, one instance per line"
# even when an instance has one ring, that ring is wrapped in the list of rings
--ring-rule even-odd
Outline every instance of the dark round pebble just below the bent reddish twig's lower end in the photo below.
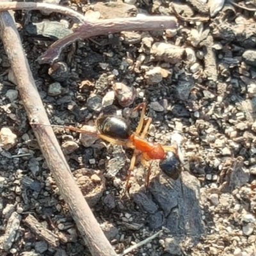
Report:
[[[49,76],[57,82],[67,81],[69,77],[69,70],[67,63],[58,61],[54,63],[48,70]]]

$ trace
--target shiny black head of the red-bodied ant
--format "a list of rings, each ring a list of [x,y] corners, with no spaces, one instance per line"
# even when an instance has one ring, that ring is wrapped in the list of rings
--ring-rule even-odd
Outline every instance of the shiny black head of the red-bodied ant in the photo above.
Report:
[[[166,152],[166,157],[160,161],[159,166],[163,173],[165,173],[168,177],[172,178],[173,180],[177,180],[179,178],[181,166],[179,157],[176,156],[175,152]]]

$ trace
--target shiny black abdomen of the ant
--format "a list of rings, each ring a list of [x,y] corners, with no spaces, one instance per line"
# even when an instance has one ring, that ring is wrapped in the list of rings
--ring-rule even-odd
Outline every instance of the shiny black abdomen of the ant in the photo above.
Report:
[[[124,118],[118,116],[102,116],[97,119],[97,128],[101,134],[126,140],[130,136],[129,124]]]

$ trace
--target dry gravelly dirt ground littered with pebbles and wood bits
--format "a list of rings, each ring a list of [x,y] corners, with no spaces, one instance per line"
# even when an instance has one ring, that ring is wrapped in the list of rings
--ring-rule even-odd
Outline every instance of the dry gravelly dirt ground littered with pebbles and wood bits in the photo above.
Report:
[[[60,4],[78,12],[90,6],[74,2]],[[173,181],[154,161],[146,191],[138,161],[124,196],[131,150],[54,128],[77,184],[118,253],[162,230],[128,255],[256,255],[256,5],[237,1],[239,8],[226,1],[220,11],[221,1],[213,1],[209,17],[203,2],[127,0],[131,9],[98,4],[94,11],[101,19],[136,12],[176,15],[179,29],[80,41],[53,67],[37,58],[70,33],[70,19],[14,13],[52,124],[93,125],[108,108],[135,129],[140,111],[132,108],[147,102],[153,119],[148,140],[171,144],[173,134],[182,136],[190,173]],[[1,255],[90,255],[28,124],[2,43],[0,53]],[[56,234],[59,246],[45,234],[35,235],[39,223]]]

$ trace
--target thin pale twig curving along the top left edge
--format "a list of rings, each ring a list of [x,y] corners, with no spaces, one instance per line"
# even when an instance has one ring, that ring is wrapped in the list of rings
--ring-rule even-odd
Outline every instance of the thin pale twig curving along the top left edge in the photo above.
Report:
[[[20,3],[20,2],[2,2],[0,3],[1,11],[8,10],[44,10],[49,12],[58,12],[79,20],[80,22],[86,22],[86,17],[83,14],[57,4],[47,3]]]

